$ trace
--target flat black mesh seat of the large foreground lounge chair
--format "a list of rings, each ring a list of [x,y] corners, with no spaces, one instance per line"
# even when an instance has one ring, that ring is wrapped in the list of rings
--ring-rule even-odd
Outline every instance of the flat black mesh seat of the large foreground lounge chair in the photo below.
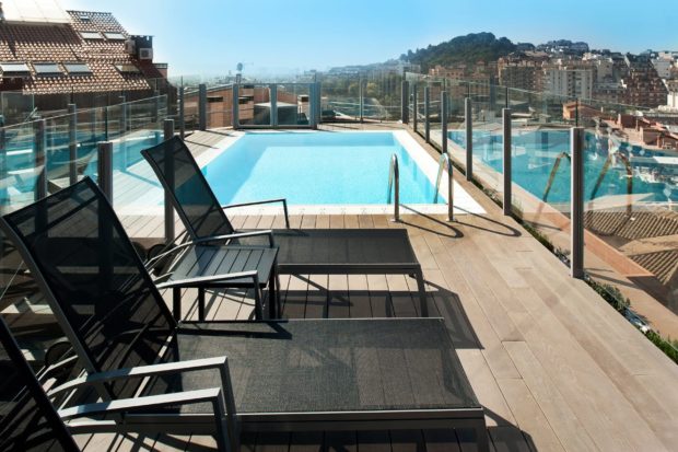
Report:
[[[229,357],[239,414],[480,407],[441,318],[210,322],[177,337],[180,359]],[[179,379],[185,391],[221,382],[217,371]]]

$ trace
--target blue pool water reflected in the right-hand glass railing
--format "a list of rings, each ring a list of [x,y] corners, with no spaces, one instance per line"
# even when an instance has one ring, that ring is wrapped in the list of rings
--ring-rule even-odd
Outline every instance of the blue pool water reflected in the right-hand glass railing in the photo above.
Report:
[[[451,140],[461,147],[466,147],[466,132],[455,130],[448,132]],[[513,181],[539,199],[542,199],[548,179],[561,152],[570,152],[569,130],[538,130],[512,136],[512,146],[517,154],[512,159]],[[476,130],[474,131],[474,155],[477,157],[498,173],[502,173],[502,147],[503,138],[500,134]],[[619,152],[626,157],[631,155],[664,155],[662,152],[653,152],[639,146],[621,143]],[[601,196],[626,195],[627,169],[622,164],[610,165],[609,171],[598,183],[608,155],[607,137],[598,139],[595,134],[586,135],[585,160],[584,160],[584,196],[585,200],[592,200]],[[666,201],[664,184],[647,183],[638,177],[635,172],[632,177],[632,193],[646,195],[646,200]],[[556,173],[556,177],[548,193],[547,200],[550,202],[570,201],[571,167],[568,159],[562,159]],[[596,187],[597,185],[597,187]],[[673,196],[673,195],[670,195]],[[674,199],[677,200],[677,199]]]

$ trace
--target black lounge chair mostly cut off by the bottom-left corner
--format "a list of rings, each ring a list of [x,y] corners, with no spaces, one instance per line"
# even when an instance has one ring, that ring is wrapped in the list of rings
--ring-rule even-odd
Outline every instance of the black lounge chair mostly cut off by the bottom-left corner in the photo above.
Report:
[[[94,420],[91,418],[92,416],[117,415],[129,409],[148,409],[160,402],[157,397],[137,397],[117,401],[115,404],[71,404],[71,406],[57,410],[54,401],[43,389],[40,380],[51,379],[59,371],[59,366],[52,366],[36,375],[9,327],[0,317],[0,374],[2,375],[0,451],[79,451],[80,448],[71,434],[117,431],[110,428],[112,422]],[[117,373],[117,379],[127,378],[126,372]],[[103,378],[104,375],[96,376],[100,381],[106,380]],[[110,380],[115,380],[115,375],[108,376]],[[202,401],[218,403],[222,398],[219,387],[165,396],[165,398],[171,397],[179,403],[199,403]],[[167,401],[164,403],[166,404]],[[163,432],[163,430],[157,430],[157,432]],[[220,449],[226,450],[225,436],[218,440]]]

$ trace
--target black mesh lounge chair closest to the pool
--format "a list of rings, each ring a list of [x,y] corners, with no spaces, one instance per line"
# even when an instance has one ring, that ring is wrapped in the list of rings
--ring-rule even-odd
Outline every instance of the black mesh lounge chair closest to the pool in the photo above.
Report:
[[[412,275],[417,278],[421,314],[428,315],[423,273],[405,229],[289,229],[285,199],[221,206],[180,138],[141,153],[192,240],[237,233],[224,209],[281,202],[288,229],[273,230],[279,274]]]

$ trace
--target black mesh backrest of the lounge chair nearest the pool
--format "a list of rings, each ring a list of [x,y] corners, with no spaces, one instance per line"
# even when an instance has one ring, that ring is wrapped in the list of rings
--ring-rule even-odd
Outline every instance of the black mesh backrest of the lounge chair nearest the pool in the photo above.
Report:
[[[234,232],[219,200],[178,137],[142,151],[194,239]],[[172,157],[172,159],[168,159]]]

